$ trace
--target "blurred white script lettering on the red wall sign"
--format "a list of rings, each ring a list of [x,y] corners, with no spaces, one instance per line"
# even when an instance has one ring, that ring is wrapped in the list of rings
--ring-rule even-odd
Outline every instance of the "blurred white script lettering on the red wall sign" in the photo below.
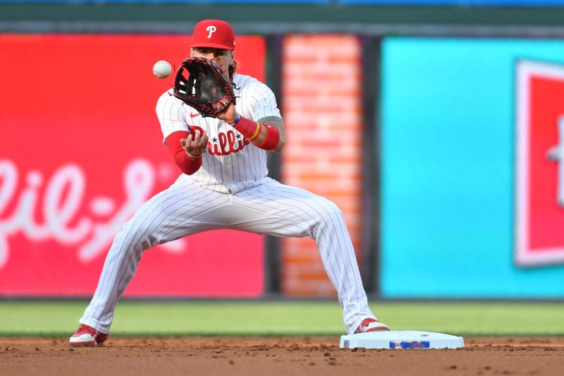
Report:
[[[86,202],[88,210],[84,208],[85,172],[77,164],[59,167],[48,179],[40,171],[29,171],[23,187],[18,187],[19,178],[16,164],[0,159],[0,269],[10,254],[8,238],[16,234],[34,242],[54,240],[77,245],[82,262],[105,253],[123,223],[152,193],[155,171],[147,159],[134,159],[123,173],[125,201],[118,206],[114,199],[99,196]],[[39,195],[43,188],[44,193]],[[13,208],[9,213],[8,207]],[[41,223],[35,219],[36,212],[42,214]],[[172,252],[182,247],[170,244],[168,250]]]

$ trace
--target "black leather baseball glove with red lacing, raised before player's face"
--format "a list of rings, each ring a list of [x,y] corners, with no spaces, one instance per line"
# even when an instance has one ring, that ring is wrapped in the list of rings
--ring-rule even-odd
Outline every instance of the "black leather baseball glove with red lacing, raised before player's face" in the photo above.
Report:
[[[176,71],[174,96],[196,109],[203,117],[217,117],[233,102],[233,83],[216,63],[203,57],[185,59]]]

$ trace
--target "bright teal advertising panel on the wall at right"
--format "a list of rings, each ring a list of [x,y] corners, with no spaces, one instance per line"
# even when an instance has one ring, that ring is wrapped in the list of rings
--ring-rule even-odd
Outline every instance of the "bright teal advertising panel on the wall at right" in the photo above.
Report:
[[[542,88],[544,97],[517,101],[517,66],[564,67],[564,41],[389,37],[382,56],[382,296],[564,298],[561,258],[518,262],[515,215],[517,114],[546,100],[564,114],[564,99]],[[546,153],[558,144],[558,106],[525,111],[548,114],[546,131],[529,134],[544,138],[530,144],[541,145],[536,171],[554,178],[537,196],[555,218],[559,164]]]

